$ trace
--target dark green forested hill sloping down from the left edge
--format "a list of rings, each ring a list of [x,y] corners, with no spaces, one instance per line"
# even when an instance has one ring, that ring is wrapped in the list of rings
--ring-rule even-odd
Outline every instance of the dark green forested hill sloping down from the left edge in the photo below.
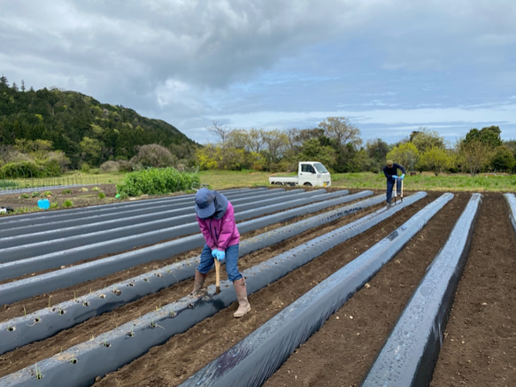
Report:
[[[157,143],[189,154],[198,144],[163,120],[142,117],[132,109],[101,104],[95,98],[60,89],[25,89],[0,78],[0,144],[17,139],[48,140],[64,151],[72,166],[88,161],[131,159],[139,145]]]

